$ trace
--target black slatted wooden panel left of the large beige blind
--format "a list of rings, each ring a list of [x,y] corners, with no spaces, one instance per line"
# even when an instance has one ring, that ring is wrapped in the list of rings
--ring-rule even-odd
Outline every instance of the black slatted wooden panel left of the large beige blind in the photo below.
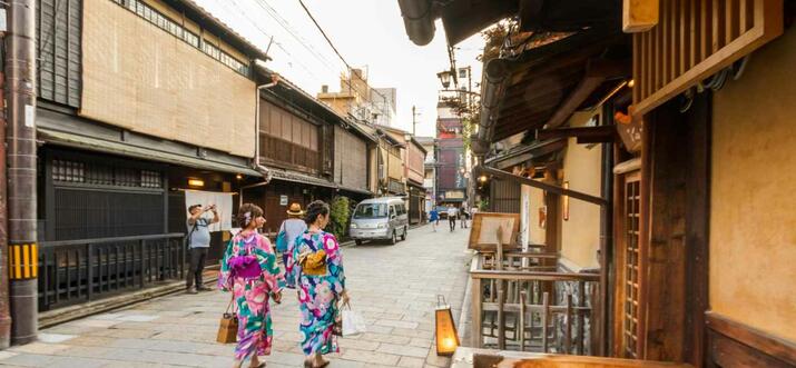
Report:
[[[80,107],[82,0],[37,1],[38,93]]]

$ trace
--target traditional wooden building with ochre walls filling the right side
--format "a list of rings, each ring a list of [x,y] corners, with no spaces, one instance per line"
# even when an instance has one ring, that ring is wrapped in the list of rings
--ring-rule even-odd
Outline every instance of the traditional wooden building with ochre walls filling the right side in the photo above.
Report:
[[[512,44],[484,68],[481,153],[512,135],[528,138],[487,156],[479,171],[541,190],[522,187],[521,198],[544,207],[546,229],[541,242],[528,211],[523,241],[542,251],[509,253],[497,270],[485,270],[491,256],[476,257],[473,345],[504,349],[517,339],[525,349],[530,340],[537,351],[643,359],[639,366],[796,365],[787,281],[796,261],[796,169],[787,159],[796,142],[794,2],[539,3],[402,2],[417,43],[438,17],[451,43],[508,16],[519,17],[520,32],[564,33]],[[431,10],[413,12],[423,4]],[[566,146],[548,151],[557,140]],[[549,259],[556,273],[543,268]],[[550,299],[537,299],[537,288],[501,297],[531,284]],[[573,322],[560,329],[562,312]],[[548,329],[564,339],[550,341]]]

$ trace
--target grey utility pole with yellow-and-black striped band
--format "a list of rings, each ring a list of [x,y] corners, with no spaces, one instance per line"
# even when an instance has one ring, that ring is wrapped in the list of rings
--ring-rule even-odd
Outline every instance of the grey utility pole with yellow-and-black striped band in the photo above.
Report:
[[[13,256],[9,265],[16,268],[10,277],[11,342],[27,344],[36,340],[38,330],[35,0],[10,1],[8,14],[8,242]]]

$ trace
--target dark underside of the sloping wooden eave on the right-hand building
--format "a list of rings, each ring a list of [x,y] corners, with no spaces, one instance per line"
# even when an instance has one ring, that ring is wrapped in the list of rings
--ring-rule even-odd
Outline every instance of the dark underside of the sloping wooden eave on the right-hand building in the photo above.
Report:
[[[511,61],[503,93],[495,96],[492,141],[566,121],[577,110],[593,108],[591,97],[616,87],[623,76],[628,38],[615,30],[590,29],[532,48]],[[607,56],[612,57],[609,59]],[[599,100],[599,99],[598,99]],[[483,112],[482,112],[483,113]],[[556,119],[553,119],[556,118]],[[483,127],[482,127],[483,128]]]

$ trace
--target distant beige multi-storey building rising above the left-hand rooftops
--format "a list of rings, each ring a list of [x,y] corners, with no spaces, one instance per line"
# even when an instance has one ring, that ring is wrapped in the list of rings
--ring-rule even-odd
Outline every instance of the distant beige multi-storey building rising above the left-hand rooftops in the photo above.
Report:
[[[396,95],[395,88],[371,87],[362,69],[351,69],[347,76],[341,76],[338,92],[330,92],[328,86],[322,86],[317,99],[342,116],[392,127]]]

